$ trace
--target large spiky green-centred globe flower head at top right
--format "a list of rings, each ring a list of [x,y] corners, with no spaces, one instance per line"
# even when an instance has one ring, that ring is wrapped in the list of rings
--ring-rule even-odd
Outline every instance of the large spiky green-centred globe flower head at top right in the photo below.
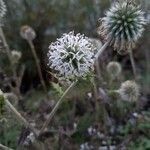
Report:
[[[115,2],[101,19],[99,34],[119,53],[127,53],[142,36],[146,19],[139,6],[127,0]]]

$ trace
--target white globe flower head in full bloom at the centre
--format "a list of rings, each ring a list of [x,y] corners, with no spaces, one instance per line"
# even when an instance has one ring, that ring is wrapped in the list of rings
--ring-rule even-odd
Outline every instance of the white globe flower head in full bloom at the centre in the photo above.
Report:
[[[49,46],[48,65],[61,80],[73,81],[85,77],[94,69],[95,47],[80,33],[63,34]]]

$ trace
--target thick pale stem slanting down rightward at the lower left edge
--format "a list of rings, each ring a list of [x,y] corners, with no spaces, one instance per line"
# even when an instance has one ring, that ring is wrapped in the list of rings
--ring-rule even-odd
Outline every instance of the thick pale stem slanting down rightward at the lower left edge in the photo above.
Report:
[[[29,124],[29,122],[16,110],[16,108],[9,102],[9,100],[5,97],[5,103],[9,107],[9,109],[16,115],[16,118],[20,120],[26,127],[29,127],[32,132],[37,136],[37,131]]]

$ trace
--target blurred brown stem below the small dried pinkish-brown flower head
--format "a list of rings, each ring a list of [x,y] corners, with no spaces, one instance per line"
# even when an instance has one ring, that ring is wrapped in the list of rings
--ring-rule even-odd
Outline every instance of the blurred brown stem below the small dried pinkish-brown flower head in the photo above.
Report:
[[[38,71],[39,77],[40,77],[41,84],[43,86],[43,89],[44,89],[45,93],[47,94],[46,84],[44,82],[44,78],[43,78],[41,67],[40,67],[40,61],[39,61],[38,56],[36,54],[36,50],[35,50],[34,44],[33,44],[33,42],[31,40],[28,40],[28,43],[30,45],[33,57],[35,59],[35,63],[36,63],[36,67],[37,67],[37,71]],[[47,98],[49,98],[48,94],[47,94]]]

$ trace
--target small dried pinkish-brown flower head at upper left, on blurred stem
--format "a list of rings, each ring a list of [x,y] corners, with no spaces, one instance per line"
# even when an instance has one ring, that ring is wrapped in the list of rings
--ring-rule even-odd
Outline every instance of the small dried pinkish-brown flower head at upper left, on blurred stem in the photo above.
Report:
[[[24,25],[20,29],[20,35],[27,41],[33,41],[36,37],[34,29],[28,25]]]

